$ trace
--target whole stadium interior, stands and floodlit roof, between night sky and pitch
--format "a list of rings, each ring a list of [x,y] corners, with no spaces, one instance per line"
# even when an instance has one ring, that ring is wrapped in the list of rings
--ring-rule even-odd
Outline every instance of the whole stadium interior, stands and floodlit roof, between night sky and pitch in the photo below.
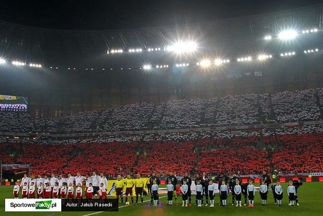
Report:
[[[0,21],[0,92],[28,104],[1,108],[0,158],[34,174],[94,167],[109,178],[320,172],[322,20],[313,6],[182,29]]]

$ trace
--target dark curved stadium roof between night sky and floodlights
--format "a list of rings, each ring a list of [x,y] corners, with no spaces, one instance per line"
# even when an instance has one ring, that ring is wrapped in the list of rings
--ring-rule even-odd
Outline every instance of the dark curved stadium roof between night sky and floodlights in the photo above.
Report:
[[[322,28],[323,4],[238,18],[127,30],[76,31],[54,30],[0,21],[0,55],[42,65],[113,65],[140,62],[137,57],[108,57],[107,50],[133,47],[163,47],[171,41],[194,38],[203,52],[240,52],[263,46],[259,39],[282,28]],[[152,56],[163,58],[163,56]]]

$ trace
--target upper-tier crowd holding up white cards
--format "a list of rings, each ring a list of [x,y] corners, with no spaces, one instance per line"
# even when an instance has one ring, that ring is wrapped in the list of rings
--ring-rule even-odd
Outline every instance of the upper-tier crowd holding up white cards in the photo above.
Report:
[[[61,119],[0,112],[1,131],[71,133],[289,123],[322,119],[323,89],[136,103]]]

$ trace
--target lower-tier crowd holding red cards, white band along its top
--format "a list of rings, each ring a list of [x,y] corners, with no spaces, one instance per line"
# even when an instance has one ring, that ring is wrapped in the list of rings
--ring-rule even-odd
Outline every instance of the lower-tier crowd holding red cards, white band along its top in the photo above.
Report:
[[[32,173],[42,174],[86,173],[93,167],[110,176],[152,170],[160,175],[169,170],[241,175],[274,167],[284,174],[323,170],[323,125],[23,142],[2,137],[0,142],[3,163],[30,163]]]

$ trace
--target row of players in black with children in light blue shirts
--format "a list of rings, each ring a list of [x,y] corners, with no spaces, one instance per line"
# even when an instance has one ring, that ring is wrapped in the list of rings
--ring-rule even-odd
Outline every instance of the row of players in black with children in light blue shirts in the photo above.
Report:
[[[267,175],[266,171],[262,172],[263,175],[260,177],[261,185],[259,187],[260,197],[262,200],[262,205],[267,205],[267,194],[268,189],[271,183],[270,176]],[[236,174],[229,179],[225,174],[220,174],[216,178],[215,181],[218,181],[218,190],[220,193],[220,203],[219,205],[227,206],[228,195],[231,191],[232,193],[232,206],[241,206],[241,194],[244,195],[244,206],[247,205],[247,198],[249,199],[249,207],[254,206],[254,197],[255,197],[255,186],[253,185],[253,180],[250,180],[248,183],[241,183],[240,179]],[[227,182],[229,181],[229,187],[227,186]],[[181,180],[180,190],[178,191],[177,186],[177,178],[173,176],[172,172],[170,172],[169,176],[166,178],[167,184],[167,197],[168,197],[168,205],[172,205],[172,198],[175,195],[175,200],[177,203],[177,196],[182,194],[183,197],[183,206],[187,206],[191,204],[191,183],[192,180],[188,176],[188,173],[184,174],[184,177]],[[238,183],[237,183],[238,182]],[[170,185],[170,184],[171,185]],[[287,193],[289,197],[289,205],[294,206],[295,204],[299,206],[297,189],[302,185],[302,179],[294,180],[289,182],[289,186],[287,188]],[[183,186],[185,185],[185,186]],[[208,198],[210,198],[210,206],[214,207],[214,195],[215,195],[215,185],[213,184],[213,180],[209,180],[206,176],[205,172],[200,177],[200,174],[195,174],[195,186],[196,186],[196,199],[195,204],[197,206],[203,205],[203,197],[205,197],[206,204],[208,206]],[[277,187],[277,188],[276,188]],[[272,193],[274,195],[275,204],[279,206],[282,205],[283,198],[283,189],[280,185],[280,182],[277,181],[275,184],[271,186]],[[153,197],[153,196],[152,196]]]

